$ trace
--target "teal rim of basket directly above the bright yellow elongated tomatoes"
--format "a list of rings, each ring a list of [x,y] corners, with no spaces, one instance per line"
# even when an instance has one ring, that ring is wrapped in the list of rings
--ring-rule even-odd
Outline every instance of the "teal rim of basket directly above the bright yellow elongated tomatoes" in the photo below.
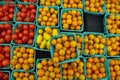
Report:
[[[37,24],[37,27],[45,27],[45,26],[41,26],[39,23],[38,23],[38,16],[39,16],[39,8],[44,8],[44,6],[37,6],[37,15],[36,15],[36,24]],[[50,26],[50,27],[59,27],[59,7],[58,6],[48,6],[48,8],[50,9],[50,8],[54,8],[55,10],[57,10],[58,11],[58,24],[56,25],[56,26]]]

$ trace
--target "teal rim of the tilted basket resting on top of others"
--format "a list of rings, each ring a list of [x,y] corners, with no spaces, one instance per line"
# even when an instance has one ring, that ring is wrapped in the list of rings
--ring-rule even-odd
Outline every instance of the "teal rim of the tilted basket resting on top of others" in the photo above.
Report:
[[[76,37],[75,37],[75,34],[74,33],[64,33],[64,34],[61,34],[59,36],[54,36],[50,39],[50,43],[53,39],[57,39],[57,38],[60,38],[62,37],[63,35],[67,35],[67,36],[73,36],[74,37],[74,40],[76,41]],[[51,56],[53,57],[54,55],[54,46],[52,44],[50,44],[50,52],[51,52]],[[78,46],[76,47],[76,58],[78,58]],[[69,59],[69,60],[64,60],[62,62],[58,62],[58,64],[62,64],[62,63],[67,63],[67,62],[71,62],[71,61],[75,61],[76,58],[74,59]]]

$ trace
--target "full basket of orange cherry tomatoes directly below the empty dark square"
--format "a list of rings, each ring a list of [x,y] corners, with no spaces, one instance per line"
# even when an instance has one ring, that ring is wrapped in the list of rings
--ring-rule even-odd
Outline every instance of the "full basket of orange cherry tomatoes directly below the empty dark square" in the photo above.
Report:
[[[102,34],[84,33],[84,54],[102,55],[105,48],[105,37]]]

